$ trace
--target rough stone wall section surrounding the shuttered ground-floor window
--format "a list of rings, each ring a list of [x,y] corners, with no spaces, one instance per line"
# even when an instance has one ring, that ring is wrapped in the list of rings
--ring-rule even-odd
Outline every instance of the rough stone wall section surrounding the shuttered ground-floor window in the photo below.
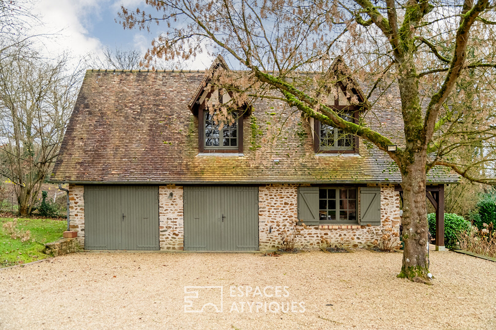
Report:
[[[371,185],[373,186],[373,185]],[[382,235],[382,230],[392,227],[399,231],[399,193],[393,185],[381,185],[381,226],[299,226],[297,246],[317,248],[325,238],[330,243],[343,243],[349,247],[366,247]],[[360,189],[359,194],[360,196]],[[260,250],[280,246],[285,231],[292,230],[292,221],[298,217],[298,187],[296,185],[270,185],[258,188],[258,227]],[[360,203],[360,201],[359,201]],[[360,204],[359,204],[360,205]],[[358,206],[360,209],[360,206]]]

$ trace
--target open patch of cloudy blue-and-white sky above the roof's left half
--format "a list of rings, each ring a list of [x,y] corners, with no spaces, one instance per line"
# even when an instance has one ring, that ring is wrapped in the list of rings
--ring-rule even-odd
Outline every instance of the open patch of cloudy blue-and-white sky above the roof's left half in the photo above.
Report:
[[[37,27],[37,32],[60,31],[57,38],[45,43],[47,51],[53,54],[63,51],[70,51],[76,57],[90,52],[98,54],[105,46],[146,51],[160,27],[151,34],[138,29],[124,30],[115,22],[121,5],[128,9],[145,7],[142,0],[40,0],[35,12],[39,12],[43,26]],[[208,57],[198,58],[188,63],[187,69],[204,69],[211,61]]]

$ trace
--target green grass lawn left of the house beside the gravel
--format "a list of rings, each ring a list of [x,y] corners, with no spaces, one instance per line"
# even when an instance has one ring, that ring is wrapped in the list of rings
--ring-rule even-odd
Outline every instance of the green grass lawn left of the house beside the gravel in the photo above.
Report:
[[[20,238],[5,235],[3,224],[12,220],[0,218],[0,268],[47,258],[43,253],[44,244],[61,238],[67,228],[64,220],[17,218],[17,231],[31,233],[29,240],[21,242]]]

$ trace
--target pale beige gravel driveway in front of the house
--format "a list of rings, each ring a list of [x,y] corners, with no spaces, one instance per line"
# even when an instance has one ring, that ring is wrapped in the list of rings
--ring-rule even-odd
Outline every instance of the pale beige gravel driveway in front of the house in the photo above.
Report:
[[[496,329],[496,263],[431,252],[428,286],[401,256],[76,253],[1,270],[0,329]]]

